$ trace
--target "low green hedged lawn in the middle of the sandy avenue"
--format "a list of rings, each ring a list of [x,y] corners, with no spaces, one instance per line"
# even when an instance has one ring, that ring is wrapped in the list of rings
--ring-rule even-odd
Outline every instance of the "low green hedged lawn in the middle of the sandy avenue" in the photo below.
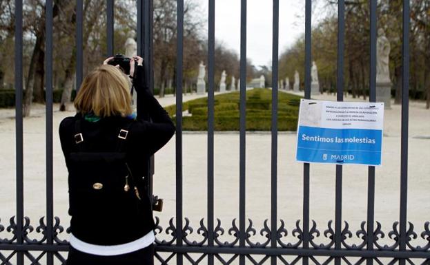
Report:
[[[272,91],[252,89],[246,91],[246,130],[270,131],[272,115]],[[299,114],[300,96],[278,93],[277,127],[279,131],[295,131]],[[215,131],[239,131],[240,92],[215,96]],[[173,118],[176,106],[165,107]],[[197,98],[184,103],[183,110],[192,116],[184,116],[184,131],[206,131],[208,129],[208,98]],[[175,119],[173,118],[175,121]]]

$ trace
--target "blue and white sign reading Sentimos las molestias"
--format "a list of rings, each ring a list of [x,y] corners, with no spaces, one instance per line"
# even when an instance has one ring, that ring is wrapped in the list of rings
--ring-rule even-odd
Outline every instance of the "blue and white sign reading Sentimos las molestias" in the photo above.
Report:
[[[296,160],[380,165],[384,103],[300,102]]]

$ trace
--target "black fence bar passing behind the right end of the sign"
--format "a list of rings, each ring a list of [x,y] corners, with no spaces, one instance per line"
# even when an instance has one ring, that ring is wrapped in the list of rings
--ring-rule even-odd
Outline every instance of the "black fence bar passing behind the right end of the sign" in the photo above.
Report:
[[[370,76],[369,101],[376,101],[376,0],[369,1],[370,5]],[[367,180],[367,250],[373,251],[373,224],[375,222],[375,167],[368,169]],[[367,265],[373,265],[373,259],[366,260]]]

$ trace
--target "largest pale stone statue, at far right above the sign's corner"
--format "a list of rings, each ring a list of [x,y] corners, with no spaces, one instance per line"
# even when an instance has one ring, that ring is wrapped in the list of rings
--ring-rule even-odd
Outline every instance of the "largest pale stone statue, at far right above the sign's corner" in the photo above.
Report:
[[[378,30],[378,41],[376,47],[376,82],[391,83],[389,70],[391,46],[382,28]]]

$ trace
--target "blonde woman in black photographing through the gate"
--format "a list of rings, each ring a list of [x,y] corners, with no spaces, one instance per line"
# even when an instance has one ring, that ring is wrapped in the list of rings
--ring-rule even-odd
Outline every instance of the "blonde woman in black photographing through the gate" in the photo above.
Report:
[[[68,265],[153,264],[155,224],[145,165],[175,126],[144,86],[143,59],[133,57],[130,78],[135,76],[151,122],[133,115],[129,77],[108,65],[110,59],[84,78],[74,102],[77,114],[59,127],[69,172]]]

